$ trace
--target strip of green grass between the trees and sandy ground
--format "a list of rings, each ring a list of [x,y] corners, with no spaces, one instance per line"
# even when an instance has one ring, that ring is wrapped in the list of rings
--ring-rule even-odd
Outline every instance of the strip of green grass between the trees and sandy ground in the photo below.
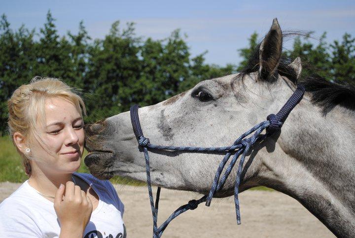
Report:
[[[87,151],[84,150],[83,158],[87,155]],[[85,166],[84,162],[81,162],[81,166],[78,170],[79,173],[90,173],[89,169]],[[24,171],[22,165],[22,158],[17,153],[15,146],[12,144],[11,139],[8,136],[0,137],[0,182],[14,182],[23,183],[28,177]],[[114,184],[125,184],[133,186],[143,186],[146,183],[136,181],[129,178],[115,176],[110,179]],[[264,190],[274,191],[266,187],[256,187],[252,190]]]

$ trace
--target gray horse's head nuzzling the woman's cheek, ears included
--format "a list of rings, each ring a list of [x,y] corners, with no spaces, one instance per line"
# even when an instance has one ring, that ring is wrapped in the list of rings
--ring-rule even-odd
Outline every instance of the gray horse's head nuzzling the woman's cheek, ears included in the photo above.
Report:
[[[301,62],[282,59],[282,42],[283,35],[275,19],[243,72],[201,81],[166,101],[141,108],[144,136],[156,145],[232,145],[250,127],[277,113],[294,91]],[[282,130],[287,130],[299,115],[297,110],[291,114]],[[121,175],[145,180],[145,162],[142,151],[138,150],[129,112],[88,125],[85,131],[86,148],[91,152],[85,163],[92,174],[99,178]],[[279,137],[281,132],[255,145],[244,166],[241,191],[263,185],[263,178],[270,176],[269,159],[284,155],[276,143]],[[150,153],[152,183],[207,193],[222,158],[222,154]],[[233,193],[235,175],[236,168],[217,196]]]

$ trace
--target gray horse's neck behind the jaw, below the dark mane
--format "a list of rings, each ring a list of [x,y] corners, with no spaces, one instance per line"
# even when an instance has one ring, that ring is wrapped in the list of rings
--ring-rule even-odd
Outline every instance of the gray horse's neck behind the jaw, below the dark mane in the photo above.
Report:
[[[335,235],[355,236],[354,112],[336,107],[324,117],[306,104],[289,120],[278,140],[284,161],[275,168],[285,172],[274,188],[296,198]]]

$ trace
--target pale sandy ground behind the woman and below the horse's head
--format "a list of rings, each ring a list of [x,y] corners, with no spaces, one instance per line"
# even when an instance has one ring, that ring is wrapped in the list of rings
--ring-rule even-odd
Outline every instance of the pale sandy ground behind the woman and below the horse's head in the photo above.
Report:
[[[20,184],[0,183],[0,201]],[[152,217],[146,187],[116,185],[125,204],[123,216],[129,238],[152,237]],[[156,191],[156,188],[154,188]],[[198,194],[162,189],[159,204],[160,225],[180,205]],[[237,225],[233,198],[214,198],[173,220],[166,238],[330,238],[334,235],[293,198],[278,192],[246,191],[240,194],[242,225]]]

